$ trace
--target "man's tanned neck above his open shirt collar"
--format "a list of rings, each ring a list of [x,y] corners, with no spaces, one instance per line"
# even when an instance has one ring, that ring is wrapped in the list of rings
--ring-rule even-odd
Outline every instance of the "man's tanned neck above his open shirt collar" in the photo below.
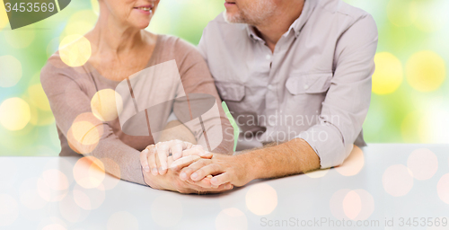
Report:
[[[280,5],[271,17],[263,23],[254,25],[256,33],[265,40],[271,52],[274,52],[277,41],[303,12],[304,0],[300,2],[297,4],[297,1],[286,1],[286,4]]]

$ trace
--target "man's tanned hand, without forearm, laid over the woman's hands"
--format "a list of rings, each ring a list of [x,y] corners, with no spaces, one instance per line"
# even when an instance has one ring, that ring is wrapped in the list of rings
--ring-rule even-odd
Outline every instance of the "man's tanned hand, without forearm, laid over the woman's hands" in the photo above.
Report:
[[[254,179],[246,155],[214,155],[211,159],[198,159],[183,168],[180,171],[180,180],[207,186],[202,180],[208,175],[214,175],[210,179],[211,187],[203,188],[220,188],[227,183],[240,187]]]

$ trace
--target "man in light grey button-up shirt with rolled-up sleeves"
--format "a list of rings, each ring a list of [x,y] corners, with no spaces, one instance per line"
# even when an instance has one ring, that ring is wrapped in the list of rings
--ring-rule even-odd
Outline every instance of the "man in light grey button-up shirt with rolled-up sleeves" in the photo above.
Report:
[[[370,14],[341,0],[226,0],[225,8],[199,50],[239,125],[238,150],[250,150],[196,157],[181,181],[203,191],[242,186],[336,166],[365,145],[377,47]]]

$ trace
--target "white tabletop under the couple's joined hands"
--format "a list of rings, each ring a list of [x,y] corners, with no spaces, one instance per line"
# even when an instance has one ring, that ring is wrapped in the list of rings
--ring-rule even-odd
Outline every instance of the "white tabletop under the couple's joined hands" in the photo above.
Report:
[[[448,220],[449,146],[371,144],[350,157],[341,169],[219,195],[153,190],[92,169],[86,177],[88,168],[74,171],[77,157],[0,157],[0,228],[433,229],[436,217]]]

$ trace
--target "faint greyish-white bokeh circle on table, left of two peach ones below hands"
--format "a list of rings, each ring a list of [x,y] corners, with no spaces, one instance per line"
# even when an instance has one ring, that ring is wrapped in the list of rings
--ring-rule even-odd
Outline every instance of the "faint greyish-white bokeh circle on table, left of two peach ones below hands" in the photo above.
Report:
[[[151,204],[151,217],[158,226],[176,226],[183,214],[182,204],[173,194],[159,196]]]

